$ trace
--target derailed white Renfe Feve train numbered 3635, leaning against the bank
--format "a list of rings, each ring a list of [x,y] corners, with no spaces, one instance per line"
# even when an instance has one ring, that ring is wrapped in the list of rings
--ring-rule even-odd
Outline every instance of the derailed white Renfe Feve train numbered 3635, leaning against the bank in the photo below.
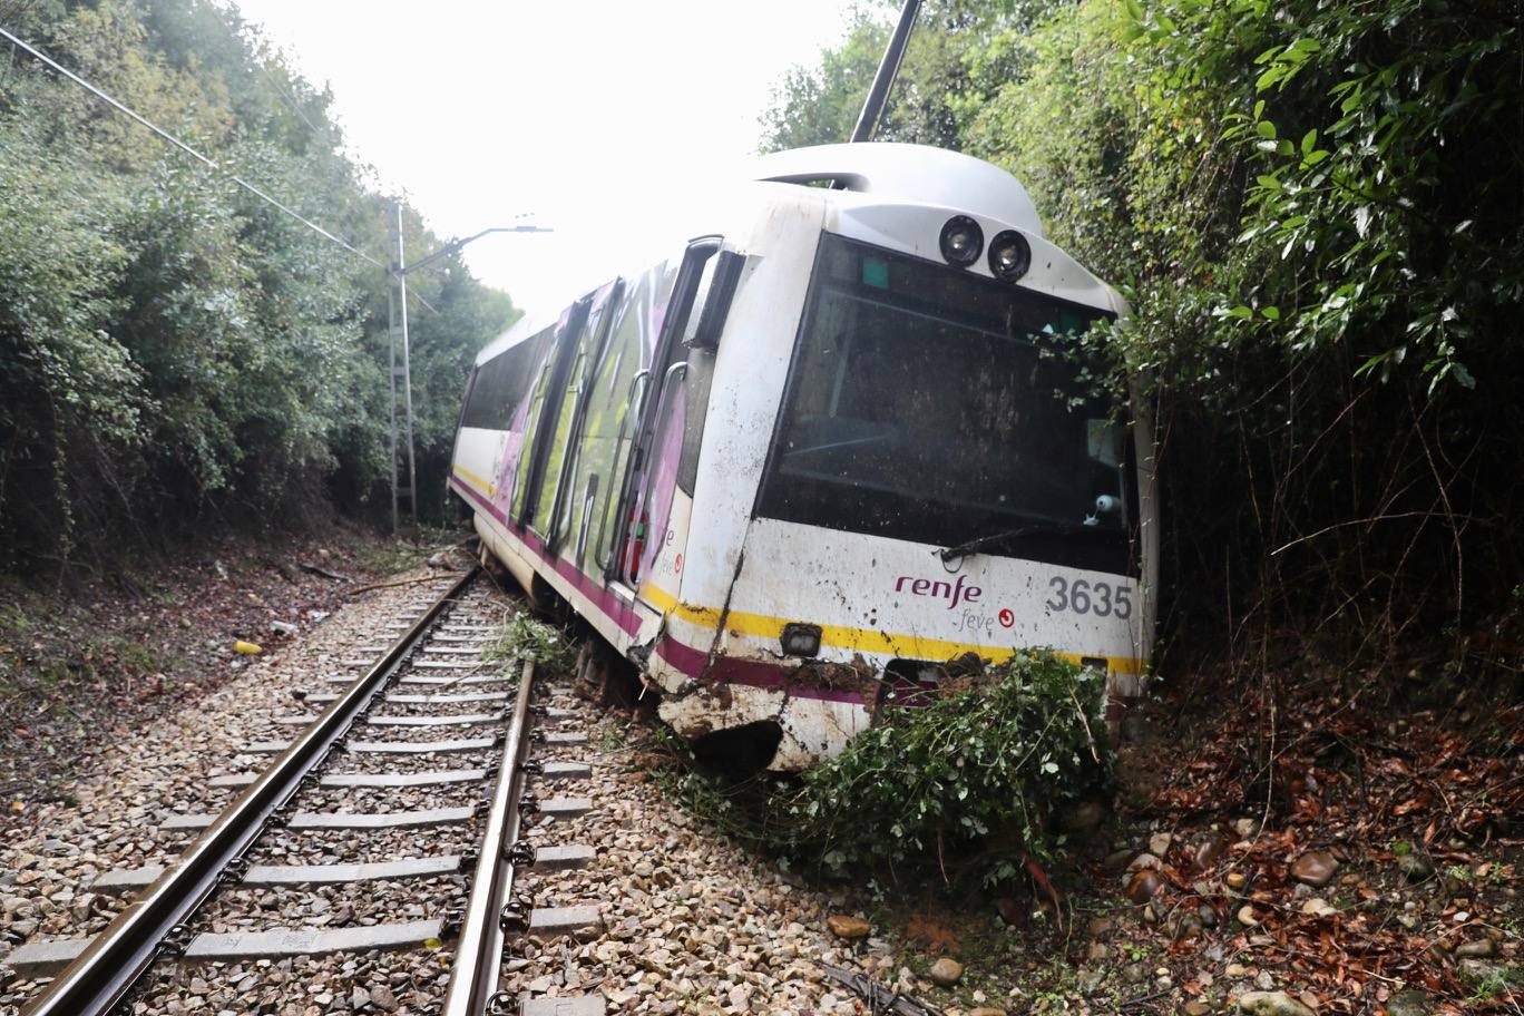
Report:
[[[980,160],[759,165],[669,260],[477,358],[450,487],[485,551],[634,661],[678,733],[759,734],[773,769],[966,653],[1050,646],[1137,695],[1152,433],[1064,355],[1122,297]]]

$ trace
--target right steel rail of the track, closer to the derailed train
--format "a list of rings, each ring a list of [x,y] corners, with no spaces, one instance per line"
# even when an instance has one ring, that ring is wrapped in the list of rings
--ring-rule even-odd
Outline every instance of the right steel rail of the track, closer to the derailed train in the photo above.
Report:
[[[477,856],[471,897],[466,900],[466,912],[460,923],[454,972],[450,976],[445,1005],[439,1010],[440,1016],[483,1016],[497,995],[504,925],[509,917],[503,908],[512,900],[514,893],[514,861],[509,851],[518,841],[520,801],[524,795],[523,763],[529,749],[529,696],[533,682],[535,663],[526,660],[518,679],[514,719],[503,742],[497,786],[492,788],[492,809],[482,836],[482,853]]]

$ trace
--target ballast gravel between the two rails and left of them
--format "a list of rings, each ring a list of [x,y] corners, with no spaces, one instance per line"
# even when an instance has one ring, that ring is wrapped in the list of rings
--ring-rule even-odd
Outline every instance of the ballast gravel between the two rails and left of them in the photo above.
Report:
[[[445,585],[439,583],[437,588],[442,591]],[[471,612],[500,618],[507,609],[506,602],[488,606],[483,597],[475,597],[474,603],[469,600],[471,597],[462,602],[456,611],[462,615]],[[177,716],[143,727],[102,731],[102,739],[113,748],[102,751],[94,768],[81,774],[69,788],[70,803],[41,804],[24,816],[8,821],[8,835],[0,848],[0,873],[12,873],[12,877],[0,877],[0,883],[9,882],[0,897],[0,941],[15,944],[34,937],[82,938],[105,928],[131,900],[90,893],[88,883],[111,868],[172,862],[195,839],[197,832],[160,832],[158,826],[172,815],[216,812],[230,803],[238,791],[210,788],[210,778],[258,772],[273,760],[270,754],[244,752],[242,746],[256,740],[288,740],[299,733],[300,728],[274,722],[277,716],[300,711],[293,692],[341,690],[343,685],[328,684],[323,678],[329,673],[358,676],[360,670],[346,669],[340,661],[358,655],[373,657],[375,653],[363,653],[361,647],[395,638],[376,638],[381,620],[415,617],[427,603],[428,597],[421,596],[419,586],[372,593],[361,602],[346,605],[303,638],[242,664],[238,676],[189,702]],[[387,728],[386,739],[396,739],[392,734],[395,730],[398,728]],[[351,765],[354,759],[338,754],[331,765],[334,771],[341,771],[340,766]],[[411,759],[427,762],[433,757]],[[480,760],[463,762],[466,756],[439,759],[451,762],[424,768],[480,765]],[[495,756],[491,759],[495,762]],[[354,797],[328,801],[347,807],[312,807],[319,797],[299,795],[299,810],[358,810]],[[439,797],[428,795],[425,803],[425,795],[413,795],[411,804],[389,801],[384,809],[369,810],[428,807]],[[375,803],[378,801],[372,801]],[[251,864],[393,861],[463,853],[474,848],[475,841],[474,824],[436,830],[384,830],[375,835],[279,830],[258,844],[248,859]],[[293,917],[297,925],[334,926],[335,919],[344,915],[347,908],[354,923],[372,923],[376,917],[386,917],[390,908],[402,908],[402,893],[413,893],[405,905],[419,906],[416,893],[428,890],[436,900],[431,909],[463,900],[460,877],[393,885],[372,882],[366,883],[364,891],[329,891],[335,888],[338,887],[325,887],[315,894],[322,900],[315,906],[311,893],[233,890],[209,903],[198,922],[248,929],[280,925]],[[297,912],[303,905],[305,912]],[[9,946],[0,949],[9,951]],[[352,989],[357,986],[369,992],[372,984],[390,984],[393,1008],[386,1011],[427,1010],[442,998],[443,989],[434,986],[442,969],[440,955],[448,954],[421,951],[415,957],[340,955],[264,963],[258,967],[212,963],[194,970],[160,964],[145,981],[139,1011],[145,1016],[224,1010],[280,1016],[293,1011],[302,1016],[315,1004],[308,984],[328,986],[325,990],[341,999],[340,1004],[352,1001]],[[363,973],[364,979],[357,978],[357,973]],[[390,981],[393,973],[401,979]],[[0,1011],[14,1011],[40,989],[41,984],[35,981],[5,984],[0,987]],[[372,995],[370,1010],[376,1008],[381,1007]]]

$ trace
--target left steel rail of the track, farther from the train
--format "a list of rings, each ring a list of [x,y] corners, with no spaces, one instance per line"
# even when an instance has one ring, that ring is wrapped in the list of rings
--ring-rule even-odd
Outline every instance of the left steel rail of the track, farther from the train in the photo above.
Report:
[[[472,568],[450,586],[360,681],[323,710],[247,791],[223,809],[174,867],[94,937],[47,992],[24,1010],[26,1014],[104,1016],[131,992],[168,940],[180,937],[184,922],[216,890],[229,864],[264,833],[276,810],[323,763],[434,618],[471,585],[479,571]]]

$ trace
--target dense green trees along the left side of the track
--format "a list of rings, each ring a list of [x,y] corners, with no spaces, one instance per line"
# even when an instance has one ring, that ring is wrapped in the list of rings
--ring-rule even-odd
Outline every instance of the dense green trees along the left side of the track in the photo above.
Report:
[[[3,24],[221,169],[6,46],[0,568],[386,503],[384,271],[230,180],[384,262],[386,198],[329,96],[212,0],[41,0]],[[404,222],[410,251],[439,247]],[[428,515],[471,358],[515,311],[459,259],[410,288]]]

